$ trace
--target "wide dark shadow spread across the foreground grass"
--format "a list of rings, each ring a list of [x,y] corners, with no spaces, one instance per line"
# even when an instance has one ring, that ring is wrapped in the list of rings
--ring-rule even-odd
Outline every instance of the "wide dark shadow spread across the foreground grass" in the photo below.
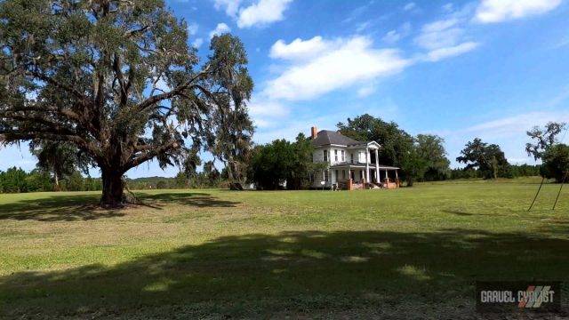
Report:
[[[0,306],[8,316],[472,318],[476,280],[567,281],[567,231],[224,236],[110,267],[1,276]]]

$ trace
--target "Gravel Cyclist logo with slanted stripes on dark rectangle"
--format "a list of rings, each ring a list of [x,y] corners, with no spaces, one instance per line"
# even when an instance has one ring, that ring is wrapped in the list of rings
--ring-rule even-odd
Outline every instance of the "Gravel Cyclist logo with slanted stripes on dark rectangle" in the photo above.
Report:
[[[559,312],[559,282],[477,282],[478,312]]]

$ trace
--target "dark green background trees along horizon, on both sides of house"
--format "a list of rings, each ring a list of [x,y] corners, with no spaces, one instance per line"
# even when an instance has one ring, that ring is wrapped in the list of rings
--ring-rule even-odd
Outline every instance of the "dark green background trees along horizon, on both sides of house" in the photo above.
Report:
[[[338,130],[353,139],[381,145],[378,161],[401,168],[400,177],[409,187],[415,181],[458,179],[497,179],[543,176],[561,182],[569,167],[569,147],[558,142],[565,124],[549,123],[527,132],[531,142],[525,146],[528,155],[543,164],[509,164],[500,146],[475,138],[467,142],[456,161],[463,168],[450,168],[445,140],[437,135],[413,136],[395,122],[385,122],[370,115],[357,116],[339,123]],[[76,149],[67,144],[30,144],[37,157],[36,169],[24,172],[11,168],[0,172],[1,192],[32,192],[52,190],[100,190],[101,179],[84,178],[88,161],[81,160]],[[75,151],[74,151],[75,150]],[[311,140],[299,133],[294,141],[274,140],[248,147],[246,156],[233,159],[231,168],[216,168],[214,161],[204,163],[201,172],[180,171],[173,178],[150,177],[125,179],[132,189],[153,188],[230,188],[236,180],[230,171],[239,172],[242,183],[253,183],[260,189],[310,188],[310,177],[326,169],[326,164],[314,163]],[[236,169],[238,168],[238,169]],[[564,177],[565,176],[565,177]]]

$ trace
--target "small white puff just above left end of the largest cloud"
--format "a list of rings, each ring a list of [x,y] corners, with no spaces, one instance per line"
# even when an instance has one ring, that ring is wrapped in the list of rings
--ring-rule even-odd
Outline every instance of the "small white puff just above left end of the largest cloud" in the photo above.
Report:
[[[325,51],[330,45],[330,43],[322,39],[322,36],[315,36],[306,41],[296,38],[290,44],[284,43],[283,40],[278,40],[271,46],[269,55],[274,59],[308,59]]]

